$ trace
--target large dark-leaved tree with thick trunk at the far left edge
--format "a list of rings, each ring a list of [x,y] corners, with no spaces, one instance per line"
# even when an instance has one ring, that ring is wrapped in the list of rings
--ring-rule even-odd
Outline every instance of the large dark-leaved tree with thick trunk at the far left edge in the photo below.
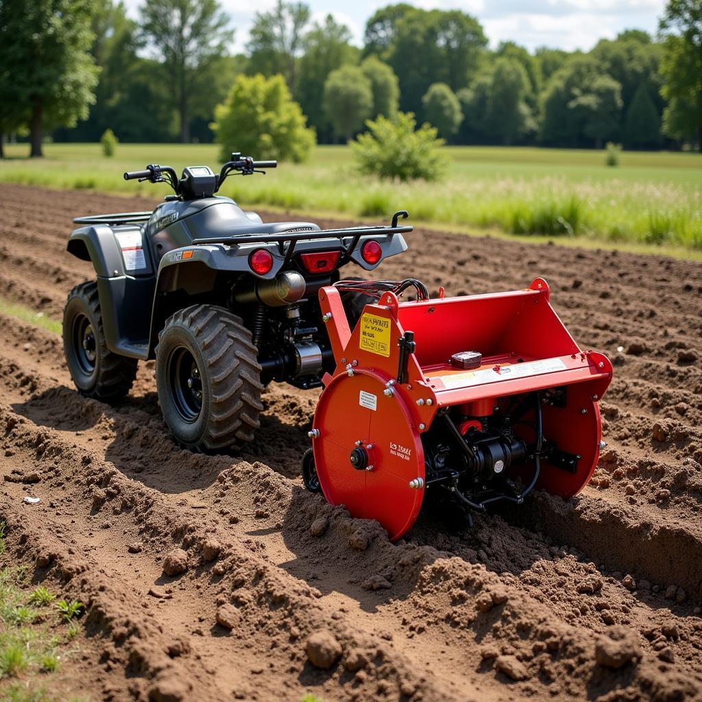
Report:
[[[0,128],[29,119],[32,157],[42,155],[45,129],[74,125],[95,99],[91,12],[88,0],[0,3]]]

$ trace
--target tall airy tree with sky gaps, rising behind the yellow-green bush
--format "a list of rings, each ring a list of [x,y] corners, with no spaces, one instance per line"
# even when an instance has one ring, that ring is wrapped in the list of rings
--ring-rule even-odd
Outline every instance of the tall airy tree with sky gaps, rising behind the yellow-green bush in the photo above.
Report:
[[[270,12],[257,12],[251,27],[249,73],[283,74],[290,92],[296,94],[298,53],[310,21],[310,8],[302,2],[277,4]]]

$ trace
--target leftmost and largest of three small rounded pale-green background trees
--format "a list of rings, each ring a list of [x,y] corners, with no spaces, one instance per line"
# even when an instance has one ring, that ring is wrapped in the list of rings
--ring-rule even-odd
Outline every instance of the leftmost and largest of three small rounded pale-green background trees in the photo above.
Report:
[[[324,84],[324,112],[334,133],[350,139],[373,110],[373,88],[358,66],[343,66]]]

